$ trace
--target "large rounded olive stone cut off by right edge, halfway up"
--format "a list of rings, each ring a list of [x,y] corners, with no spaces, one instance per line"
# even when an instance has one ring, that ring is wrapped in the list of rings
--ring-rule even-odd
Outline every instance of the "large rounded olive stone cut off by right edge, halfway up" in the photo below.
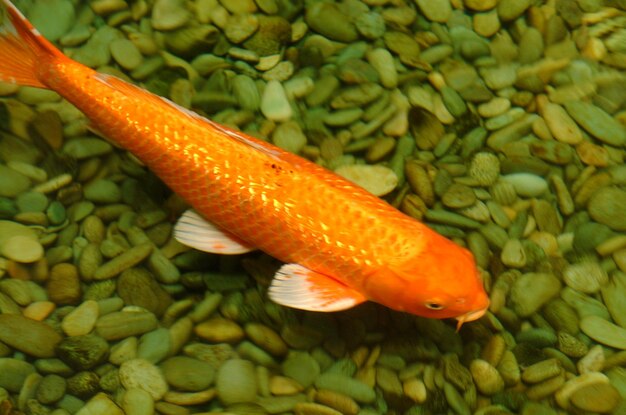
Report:
[[[589,215],[616,231],[626,231],[626,192],[618,187],[603,187],[591,195]]]

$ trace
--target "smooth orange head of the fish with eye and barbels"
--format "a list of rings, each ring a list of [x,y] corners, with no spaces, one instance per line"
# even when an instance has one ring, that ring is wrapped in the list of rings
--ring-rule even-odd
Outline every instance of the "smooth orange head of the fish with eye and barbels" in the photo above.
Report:
[[[372,299],[421,317],[456,318],[459,327],[480,318],[489,298],[473,255],[438,234],[432,239],[408,260],[379,270],[369,280]]]

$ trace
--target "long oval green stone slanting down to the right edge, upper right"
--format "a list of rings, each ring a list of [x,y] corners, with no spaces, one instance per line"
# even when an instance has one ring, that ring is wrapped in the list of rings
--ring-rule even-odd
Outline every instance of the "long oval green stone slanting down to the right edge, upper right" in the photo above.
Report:
[[[584,101],[569,101],[565,110],[589,134],[616,147],[626,145],[626,127],[603,109]]]

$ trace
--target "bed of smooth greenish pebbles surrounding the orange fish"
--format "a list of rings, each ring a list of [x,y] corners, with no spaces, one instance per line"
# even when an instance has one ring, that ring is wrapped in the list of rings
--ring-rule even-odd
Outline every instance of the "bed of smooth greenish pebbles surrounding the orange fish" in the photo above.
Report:
[[[16,3],[467,246],[491,307],[278,306],[275,260],[181,246],[132,155],[1,84],[1,414],[626,413],[626,2]]]

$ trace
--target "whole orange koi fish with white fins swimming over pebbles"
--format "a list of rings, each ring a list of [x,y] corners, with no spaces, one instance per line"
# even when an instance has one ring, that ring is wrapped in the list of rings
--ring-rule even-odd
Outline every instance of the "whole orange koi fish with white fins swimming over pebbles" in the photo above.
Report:
[[[337,311],[364,301],[424,317],[481,317],[469,251],[332,172],[64,56],[8,1],[0,80],[47,88],[141,159],[193,210],[175,237],[220,254],[283,261],[279,304]]]

